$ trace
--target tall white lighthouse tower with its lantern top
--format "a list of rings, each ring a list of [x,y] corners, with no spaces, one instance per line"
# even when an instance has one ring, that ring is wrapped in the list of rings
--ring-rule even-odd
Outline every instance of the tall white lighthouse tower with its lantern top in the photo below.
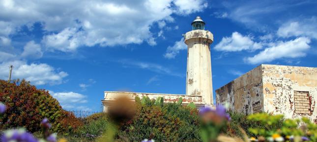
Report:
[[[186,95],[201,95],[205,105],[213,105],[210,44],[213,35],[204,30],[205,23],[197,16],[193,30],[184,35],[187,45]]]

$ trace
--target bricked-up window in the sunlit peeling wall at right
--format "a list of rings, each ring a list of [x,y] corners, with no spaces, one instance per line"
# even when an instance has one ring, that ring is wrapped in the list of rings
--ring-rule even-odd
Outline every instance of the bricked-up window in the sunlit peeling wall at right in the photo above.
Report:
[[[295,113],[311,114],[309,92],[294,91]]]

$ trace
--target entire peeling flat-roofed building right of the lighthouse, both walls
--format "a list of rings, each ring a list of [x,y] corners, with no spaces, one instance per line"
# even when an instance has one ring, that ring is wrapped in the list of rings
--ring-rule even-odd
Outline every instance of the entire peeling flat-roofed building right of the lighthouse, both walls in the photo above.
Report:
[[[260,65],[216,90],[216,103],[245,114],[317,120],[317,68]]]

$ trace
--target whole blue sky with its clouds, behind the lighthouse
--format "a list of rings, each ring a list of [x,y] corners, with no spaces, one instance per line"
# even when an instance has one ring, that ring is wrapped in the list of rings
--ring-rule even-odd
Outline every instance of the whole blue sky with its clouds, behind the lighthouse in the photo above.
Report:
[[[182,34],[214,34],[214,90],[260,64],[317,67],[315,0],[0,0],[0,78],[26,78],[67,110],[104,91],[185,94]]]

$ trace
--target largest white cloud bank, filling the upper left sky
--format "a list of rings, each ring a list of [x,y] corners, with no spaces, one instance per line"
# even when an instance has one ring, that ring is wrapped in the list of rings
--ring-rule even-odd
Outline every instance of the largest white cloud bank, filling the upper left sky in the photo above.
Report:
[[[23,25],[31,30],[40,22],[42,44],[50,51],[144,41],[153,46],[154,23],[173,22],[173,14],[187,15],[206,7],[206,0],[1,0],[0,36],[8,38]]]

